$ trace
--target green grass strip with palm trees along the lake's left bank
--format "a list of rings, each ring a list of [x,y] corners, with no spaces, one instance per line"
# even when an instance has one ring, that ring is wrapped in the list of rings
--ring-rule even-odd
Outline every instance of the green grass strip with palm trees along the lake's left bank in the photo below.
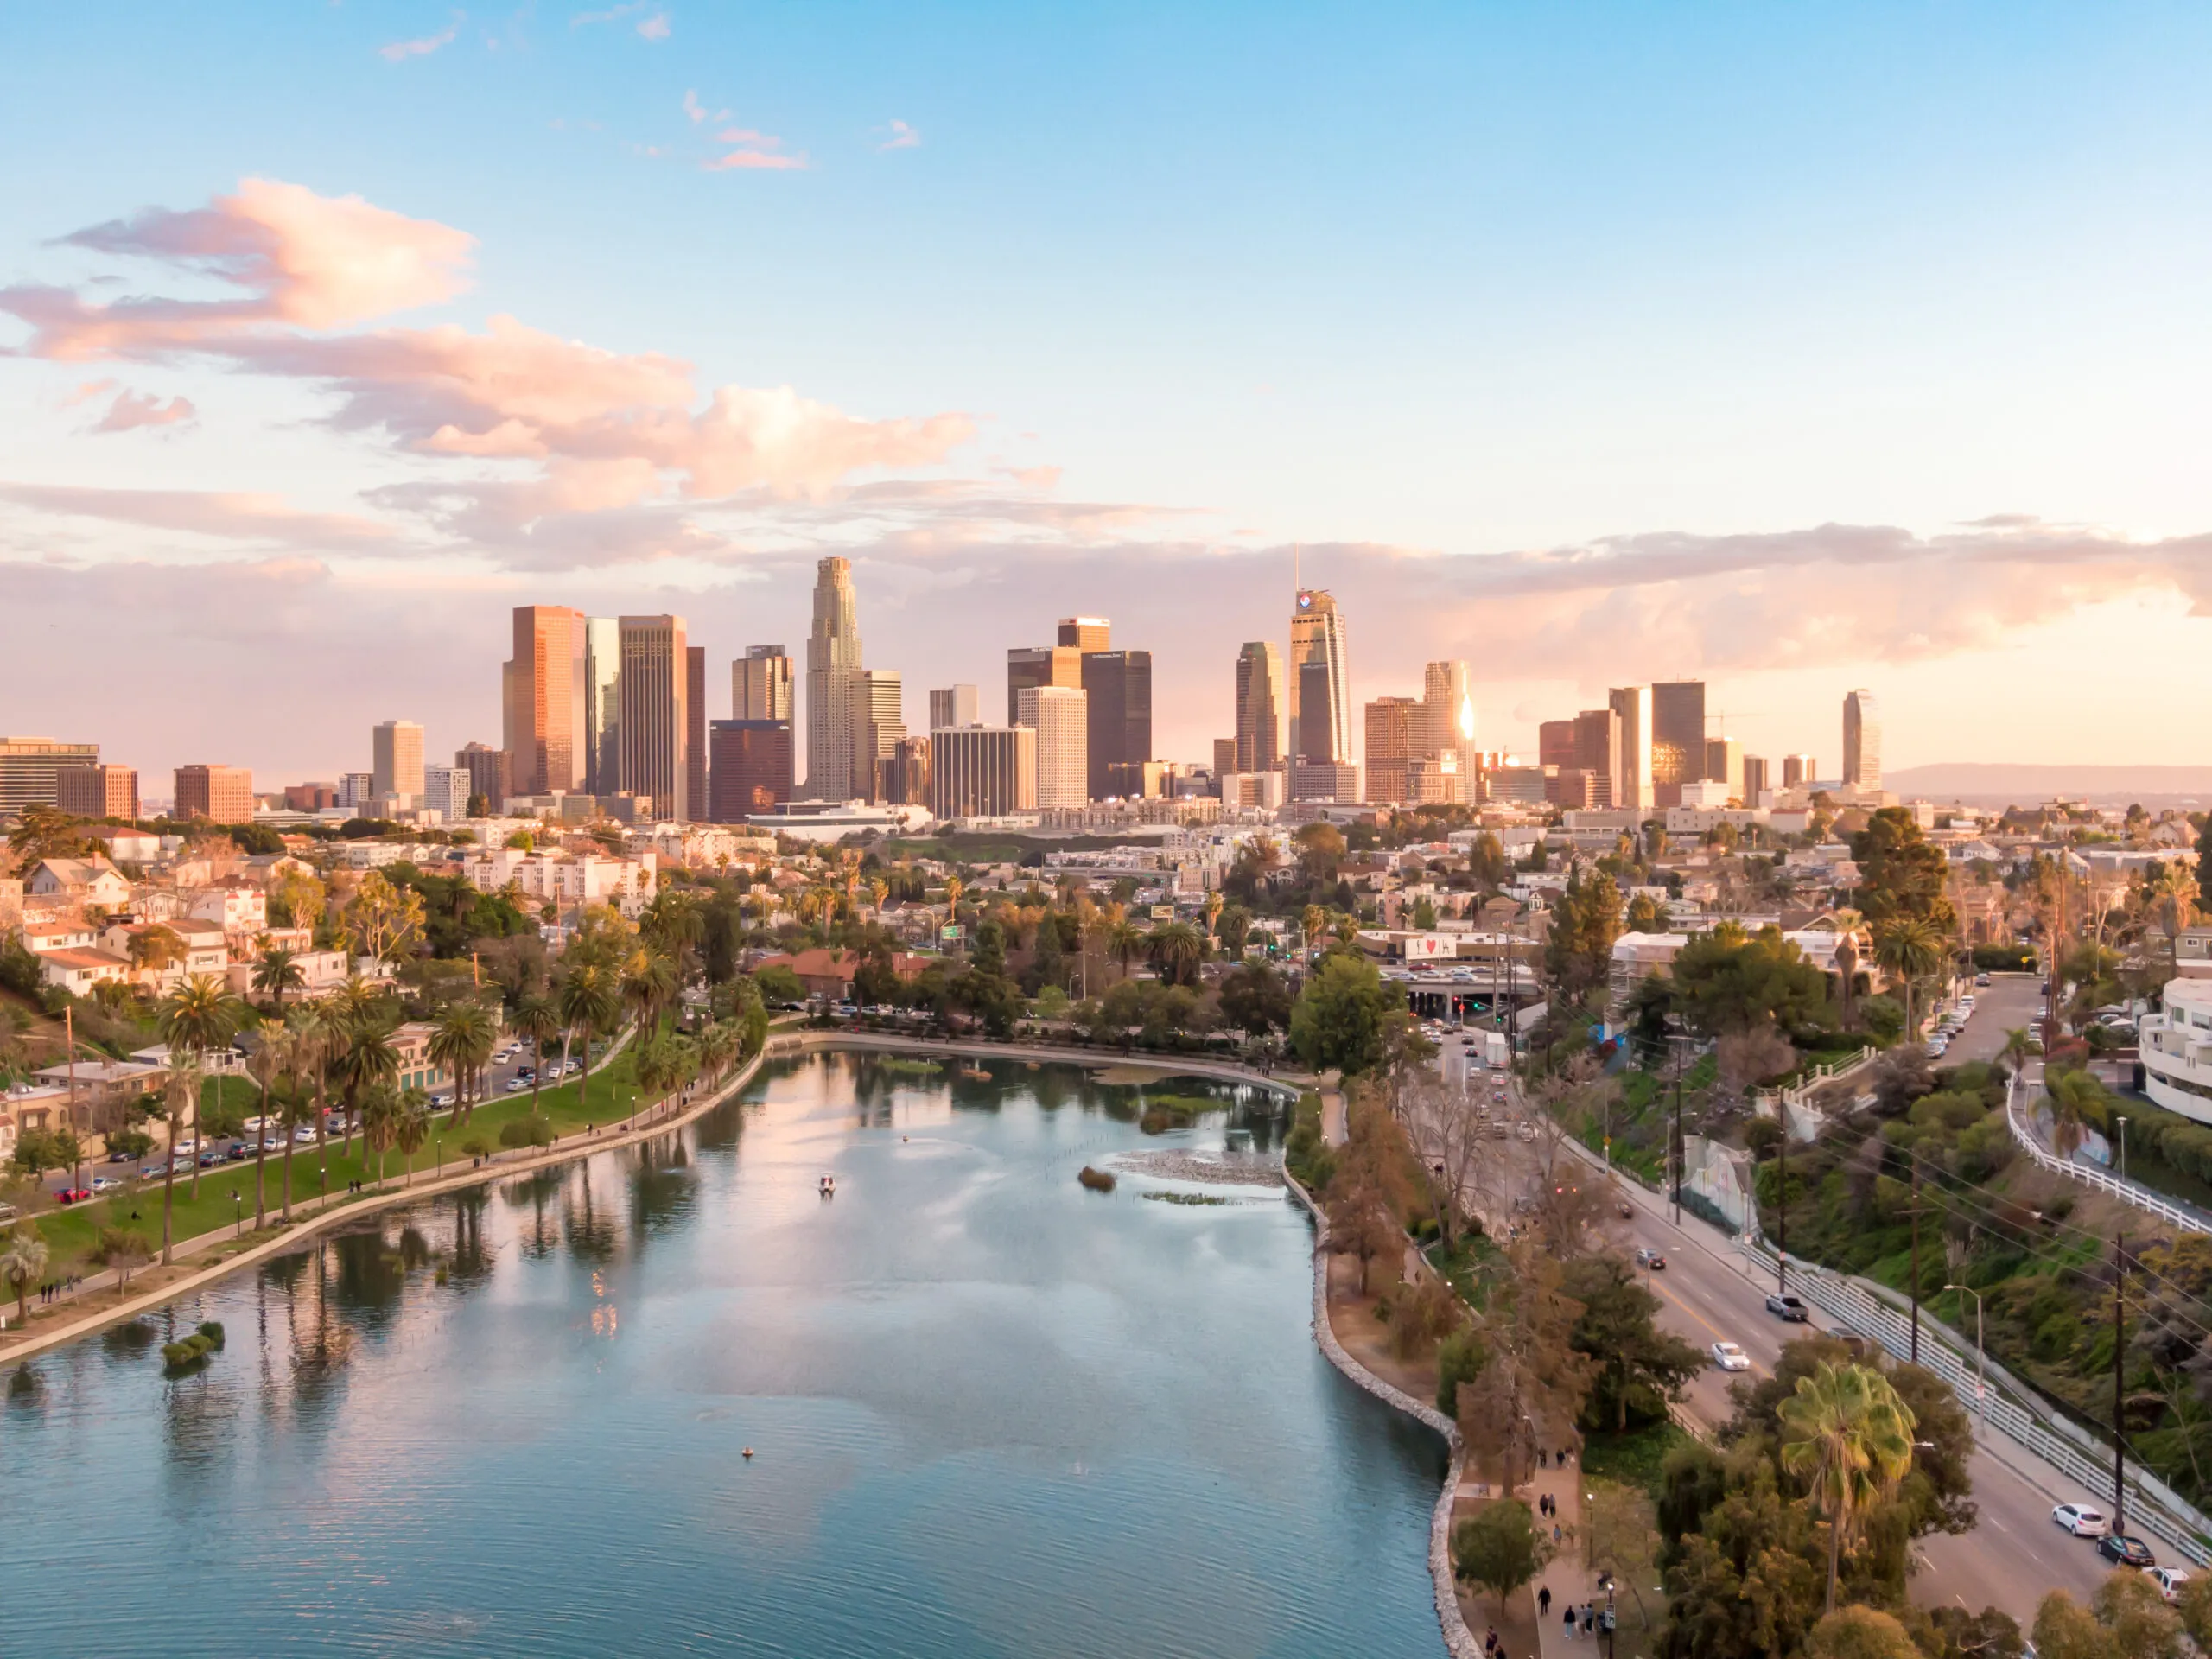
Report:
[[[633,1044],[635,1046],[635,1044]],[[628,1115],[633,1102],[637,1099],[637,1084],[630,1075],[630,1046],[613,1057],[606,1066],[593,1066],[591,1073],[591,1097],[582,1099],[582,1079],[571,1077],[568,1082],[546,1088],[538,1097],[540,1110],[553,1121],[555,1135],[573,1135],[586,1124],[615,1124]],[[241,1077],[212,1077],[208,1086],[243,1086],[252,1097],[250,1110],[261,1108],[261,1091],[254,1088],[252,1079]],[[460,1150],[460,1141],[484,1137],[491,1146],[500,1144],[500,1126],[518,1117],[529,1117],[531,1095],[522,1091],[520,1095],[495,1095],[482,1102],[471,1113],[465,1128],[451,1128],[451,1115],[440,1115],[434,1119],[431,1137],[422,1141],[422,1148],[414,1155],[411,1164],[416,1175],[434,1175],[440,1168],[440,1159],[451,1166],[467,1155]],[[376,1179],[376,1157],[363,1146],[361,1135],[354,1135],[352,1157],[341,1155],[345,1141],[332,1139],[325,1146],[299,1146],[292,1152],[292,1197],[314,1199],[325,1190],[343,1192],[349,1181],[374,1181]],[[325,1157],[327,1155],[327,1157]],[[385,1175],[400,1175],[409,1159],[398,1152],[387,1152],[383,1159]],[[97,1166],[106,1170],[111,1166]],[[137,1166],[131,1166],[133,1170]],[[283,1157],[272,1152],[265,1164],[268,1181],[268,1208],[274,1214],[283,1197]],[[239,1201],[232,1201],[232,1192]],[[192,1179],[188,1175],[177,1175],[177,1186],[173,1194],[173,1237],[181,1243],[201,1232],[215,1232],[237,1225],[239,1217],[252,1217],[254,1212],[254,1164],[223,1164],[212,1170],[199,1172],[199,1197],[192,1197]],[[157,1252],[161,1248],[161,1183],[146,1181],[133,1183],[102,1197],[95,1203],[71,1206],[69,1210],[51,1210],[38,1219],[38,1230],[46,1239],[51,1252],[49,1272],[84,1272],[86,1252],[100,1239],[102,1228],[124,1225],[135,1230],[148,1241]]]

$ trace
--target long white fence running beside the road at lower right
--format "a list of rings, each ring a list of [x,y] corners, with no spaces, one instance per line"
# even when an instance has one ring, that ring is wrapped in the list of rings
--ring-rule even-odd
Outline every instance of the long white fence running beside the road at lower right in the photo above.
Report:
[[[1774,1248],[1765,1239],[1752,1241],[1747,1250],[1774,1267]],[[1891,1292],[1878,1292],[1860,1279],[1816,1267],[1796,1256],[1790,1256],[1790,1287],[1847,1329],[1880,1343],[1896,1358],[1911,1358],[1911,1316],[1889,1301]],[[1964,1343],[1949,1325],[1929,1318],[1924,1305],[1920,1312],[1920,1365],[1949,1383],[1966,1411],[1991,1429],[2002,1429],[2046,1464],[2081,1482],[2086,1493],[2110,1495],[2112,1449],[2081,1425],[2048,1411],[2000,1365],[1984,1367],[1989,1385],[1978,1389],[1973,1345]],[[2205,1520],[2194,1504],[2132,1462],[2121,1467],[2121,1489],[2128,1495],[2126,1524],[2130,1531],[2152,1533],[2197,1566],[2212,1566],[2212,1520]]]

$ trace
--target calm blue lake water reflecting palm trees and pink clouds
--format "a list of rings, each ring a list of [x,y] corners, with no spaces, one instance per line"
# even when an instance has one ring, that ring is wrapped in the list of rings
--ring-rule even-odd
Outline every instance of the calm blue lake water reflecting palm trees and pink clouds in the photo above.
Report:
[[[1316,1354],[1307,1221],[1075,1181],[1267,1150],[1221,1095],[779,1062],[33,1358],[0,1652],[1433,1659],[1442,1447]]]

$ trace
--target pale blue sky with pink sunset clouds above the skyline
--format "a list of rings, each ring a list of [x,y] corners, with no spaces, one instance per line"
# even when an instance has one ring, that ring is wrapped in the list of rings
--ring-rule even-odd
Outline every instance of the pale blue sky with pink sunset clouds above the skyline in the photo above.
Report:
[[[1486,748],[1703,677],[2205,763],[2212,11],[246,4],[0,20],[0,730],[498,741],[515,604],[1232,730],[1292,568]]]

